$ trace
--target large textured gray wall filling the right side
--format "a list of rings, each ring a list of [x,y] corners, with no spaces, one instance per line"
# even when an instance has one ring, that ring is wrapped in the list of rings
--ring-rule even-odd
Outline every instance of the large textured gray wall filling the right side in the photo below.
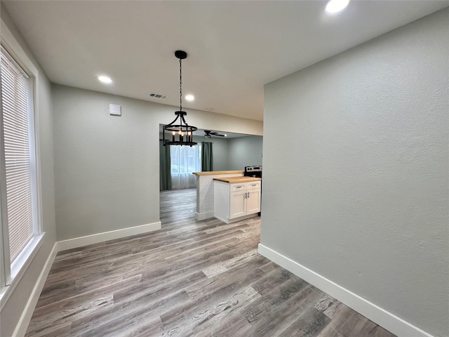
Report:
[[[262,244],[434,336],[449,336],[448,44],[446,9],[264,96]]]

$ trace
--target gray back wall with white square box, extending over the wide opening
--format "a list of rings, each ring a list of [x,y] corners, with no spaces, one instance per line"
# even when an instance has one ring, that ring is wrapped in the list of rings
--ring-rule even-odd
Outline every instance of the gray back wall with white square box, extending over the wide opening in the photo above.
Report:
[[[58,240],[158,222],[159,124],[175,107],[53,85],[53,109]],[[187,112],[199,128],[262,134],[261,121]]]

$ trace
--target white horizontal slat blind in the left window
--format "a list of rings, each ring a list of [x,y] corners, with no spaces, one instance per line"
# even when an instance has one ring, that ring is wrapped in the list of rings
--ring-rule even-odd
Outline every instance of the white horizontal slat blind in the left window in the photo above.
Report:
[[[15,63],[15,62],[14,62]],[[34,235],[28,84],[23,70],[1,51],[1,110],[11,263]]]

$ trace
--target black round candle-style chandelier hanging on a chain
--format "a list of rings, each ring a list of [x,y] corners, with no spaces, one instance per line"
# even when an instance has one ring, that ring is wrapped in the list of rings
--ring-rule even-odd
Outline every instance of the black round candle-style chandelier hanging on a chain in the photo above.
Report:
[[[182,111],[182,65],[181,61],[187,58],[185,51],[175,51],[175,56],[180,59],[180,110],[175,111],[176,118],[170,124],[162,127],[163,145],[196,145],[193,141],[194,131],[198,128],[187,124],[184,117],[187,112]],[[179,121],[178,121],[179,119]],[[166,138],[168,136],[168,138]]]

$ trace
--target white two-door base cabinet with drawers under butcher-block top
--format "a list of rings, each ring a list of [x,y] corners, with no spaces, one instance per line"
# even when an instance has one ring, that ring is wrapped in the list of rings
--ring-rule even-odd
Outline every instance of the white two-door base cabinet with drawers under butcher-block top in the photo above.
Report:
[[[214,216],[225,223],[260,212],[260,180],[245,183],[214,182]]]

